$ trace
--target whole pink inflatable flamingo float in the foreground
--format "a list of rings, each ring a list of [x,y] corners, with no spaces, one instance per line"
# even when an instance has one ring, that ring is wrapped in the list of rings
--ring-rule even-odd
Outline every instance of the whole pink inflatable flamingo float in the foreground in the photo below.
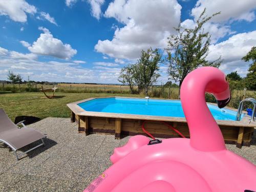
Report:
[[[219,108],[229,102],[229,84],[219,69],[196,69],[182,83],[181,103],[190,139],[150,142],[142,135],[131,137],[115,148],[113,165],[84,192],[256,191],[256,166],[226,149],[205,92],[216,97]]]

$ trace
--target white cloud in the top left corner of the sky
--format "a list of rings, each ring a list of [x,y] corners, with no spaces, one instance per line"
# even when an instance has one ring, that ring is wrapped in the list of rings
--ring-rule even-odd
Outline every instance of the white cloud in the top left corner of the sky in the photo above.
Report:
[[[25,0],[0,0],[0,15],[8,15],[15,22],[27,22],[27,13],[36,13],[36,7]]]

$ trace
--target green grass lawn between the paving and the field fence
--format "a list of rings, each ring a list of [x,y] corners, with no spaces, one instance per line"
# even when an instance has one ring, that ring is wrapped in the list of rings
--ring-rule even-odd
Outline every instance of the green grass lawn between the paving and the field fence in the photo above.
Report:
[[[15,117],[27,115],[39,118],[70,117],[67,103],[90,98],[109,96],[142,97],[131,94],[97,94],[97,93],[55,93],[54,99],[41,98],[42,93],[8,93],[0,92],[0,108],[3,108],[14,121]]]

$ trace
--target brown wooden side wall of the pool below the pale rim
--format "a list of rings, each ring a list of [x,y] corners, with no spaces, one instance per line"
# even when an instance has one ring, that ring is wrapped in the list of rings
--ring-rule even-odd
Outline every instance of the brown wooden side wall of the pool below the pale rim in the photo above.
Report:
[[[78,122],[79,133],[85,132],[88,134],[108,134],[115,135],[116,139],[120,139],[124,136],[145,135],[142,131],[142,123],[144,120],[140,119],[121,119],[120,133],[116,133],[116,119],[120,118],[105,118],[105,117],[90,117],[88,116],[88,125],[83,122],[83,118],[75,116],[76,122]],[[79,123],[80,121],[80,123]],[[181,132],[186,138],[189,138],[189,130],[186,122],[166,122],[174,126],[179,132]],[[150,132],[156,138],[175,138],[180,137],[175,131],[163,124],[161,121],[147,121],[145,124],[145,130]],[[88,126],[88,133],[86,131]],[[225,143],[237,144],[238,147],[242,145],[250,146],[251,135],[253,133],[253,127],[239,127],[239,126],[226,126],[219,125]],[[207,127],[205,127],[207,129]],[[239,138],[240,136],[240,138]]]

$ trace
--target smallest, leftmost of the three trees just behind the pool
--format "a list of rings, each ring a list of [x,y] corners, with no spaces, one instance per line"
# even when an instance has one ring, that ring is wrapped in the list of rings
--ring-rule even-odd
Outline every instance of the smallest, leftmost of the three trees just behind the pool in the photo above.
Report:
[[[133,87],[134,87],[134,76],[133,76],[134,66],[133,65],[127,65],[126,67],[123,67],[120,72],[120,76],[118,78],[118,81],[123,84],[128,84],[130,87],[130,92],[133,94]]]

